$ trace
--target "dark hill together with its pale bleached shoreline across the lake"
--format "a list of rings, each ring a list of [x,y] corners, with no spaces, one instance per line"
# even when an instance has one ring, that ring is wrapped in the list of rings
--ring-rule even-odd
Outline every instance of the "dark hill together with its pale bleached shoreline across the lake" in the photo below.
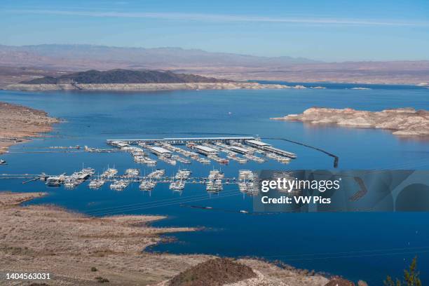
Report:
[[[229,81],[172,71],[111,69],[44,76],[6,86],[8,90],[203,90],[292,88],[280,84]],[[301,87],[296,87],[301,88]]]

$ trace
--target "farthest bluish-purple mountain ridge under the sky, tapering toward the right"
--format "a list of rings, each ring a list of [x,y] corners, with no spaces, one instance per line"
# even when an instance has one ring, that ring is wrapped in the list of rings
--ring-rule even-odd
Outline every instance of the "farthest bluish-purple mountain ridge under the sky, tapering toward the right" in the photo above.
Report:
[[[83,62],[83,61],[86,61]],[[257,57],[233,53],[210,53],[183,48],[121,48],[92,45],[2,46],[0,63],[8,65],[37,65],[41,67],[76,67],[80,65],[116,64],[116,67],[246,67],[272,64],[315,63],[301,57]],[[83,68],[83,67],[81,67]]]

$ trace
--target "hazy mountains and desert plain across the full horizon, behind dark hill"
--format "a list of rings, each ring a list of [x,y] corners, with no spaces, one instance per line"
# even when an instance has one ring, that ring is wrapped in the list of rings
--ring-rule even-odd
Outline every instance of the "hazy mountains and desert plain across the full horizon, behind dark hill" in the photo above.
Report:
[[[25,69],[19,74],[16,67]],[[429,83],[428,60],[318,62],[300,57],[257,57],[183,48],[0,45],[0,86],[88,69],[168,70],[238,81]]]

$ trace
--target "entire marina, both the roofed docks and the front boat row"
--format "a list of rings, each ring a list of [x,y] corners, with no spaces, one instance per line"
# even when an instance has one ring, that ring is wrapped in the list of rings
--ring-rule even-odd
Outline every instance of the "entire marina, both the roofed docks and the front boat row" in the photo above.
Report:
[[[156,165],[159,161],[175,166],[180,164],[191,164],[192,161],[210,164],[219,163],[227,165],[229,160],[245,164],[249,161],[264,163],[268,159],[290,162],[292,158],[297,158],[295,154],[272,147],[270,144],[261,142],[254,137],[209,137],[209,138],[166,138],[166,139],[108,139],[107,144],[113,147],[113,152],[125,152],[130,154],[135,163],[144,163],[148,166]],[[62,149],[61,147],[52,147]],[[66,147],[64,147],[66,148]],[[67,147],[79,149],[77,147]],[[104,153],[108,149],[96,149],[85,146],[83,151],[90,153]],[[150,158],[147,152],[156,156]],[[254,155],[255,153],[260,156]],[[223,156],[226,155],[226,158]],[[184,157],[182,157],[184,156]],[[264,156],[264,157],[262,157]],[[189,158],[189,159],[188,159]],[[192,161],[191,161],[192,160]],[[95,175],[93,168],[83,168],[71,175],[62,173],[61,175],[0,175],[0,179],[24,178],[27,182],[34,182],[41,179],[47,186],[64,186],[67,189],[74,189],[86,180],[90,179],[88,188],[100,189],[104,184],[109,184],[109,189],[123,191],[132,183],[138,183],[142,191],[152,191],[157,184],[169,184],[169,189],[174,191],[183,190],[186,184],[205,184],[207,192],[222,191],[224,184],[237,184],[242,192],[253,192],[257,180],[256,173],[251,170],[239,170],[237,177],[225,177],[220,170],[210,170],[207,177],[191,177],[191,170],[178,168],[175,175],[166,176],[164,169],[156,169],[149,172],[149,175],[142,175],[139,168],[127,168],[123,175],[118,175],[116,168],[105,169],[101,175]]]

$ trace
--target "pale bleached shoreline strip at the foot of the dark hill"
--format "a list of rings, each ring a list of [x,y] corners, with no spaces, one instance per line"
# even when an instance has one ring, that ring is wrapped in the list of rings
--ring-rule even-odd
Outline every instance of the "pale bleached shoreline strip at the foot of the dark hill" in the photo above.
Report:
[[[262,84],[248,82],[226,83],[60,83],[27,84],[14,83],[6,90],[43,91],[43,90],[111,90],[111,91],[155,91],[155,90],[236,90],[236,89],[282,89],[304,88],[280,84]]]

